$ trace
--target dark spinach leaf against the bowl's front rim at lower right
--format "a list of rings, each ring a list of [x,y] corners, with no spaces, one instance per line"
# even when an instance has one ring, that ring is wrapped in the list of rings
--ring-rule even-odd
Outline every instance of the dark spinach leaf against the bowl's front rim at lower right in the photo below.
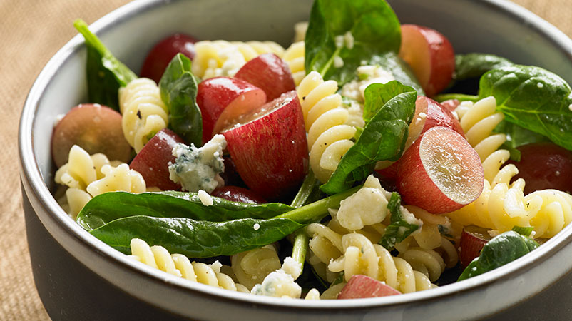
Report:
[[[481,255],[465,268],[458,281],[481,275],[496,269],[496,267],[511,263],[538,248],[538,246],[535,240],[513,230],[497,235],[484,245]]]

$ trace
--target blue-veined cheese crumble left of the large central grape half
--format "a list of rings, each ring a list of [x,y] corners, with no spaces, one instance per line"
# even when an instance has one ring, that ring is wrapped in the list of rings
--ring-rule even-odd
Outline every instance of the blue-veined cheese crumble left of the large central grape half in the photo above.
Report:
[[[225,170],[223,149],[226,147],[225,136],[215,135],[201,148],[193,144],[186,146],[178,143],[173,148],[175,163],[169,165],[169,178],[180,183],[183,190],[212,192],[218,187],[217,176]]]

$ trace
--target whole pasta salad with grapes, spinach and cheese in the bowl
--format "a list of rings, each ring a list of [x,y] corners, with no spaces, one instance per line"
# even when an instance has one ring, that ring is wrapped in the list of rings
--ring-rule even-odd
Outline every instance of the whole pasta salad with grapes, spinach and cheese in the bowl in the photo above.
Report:
[[[142,264],[382,297],[489,272],[572,221],[568,83],[455,54],[383,0],[315,0],[286,48],[173,34],[139,76],[74,26],[89,103],[53,129],[56,198]]]

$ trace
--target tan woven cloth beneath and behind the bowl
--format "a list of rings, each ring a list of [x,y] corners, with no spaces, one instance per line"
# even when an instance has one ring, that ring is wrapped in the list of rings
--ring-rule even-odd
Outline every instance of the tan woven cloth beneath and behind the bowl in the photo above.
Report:
[[[570,0],[514,0],[572,36]],[[0,0],[0,320],[49,320],[34,287],[18,174],[21,108],[34,78],[76,34],[126,0]]]

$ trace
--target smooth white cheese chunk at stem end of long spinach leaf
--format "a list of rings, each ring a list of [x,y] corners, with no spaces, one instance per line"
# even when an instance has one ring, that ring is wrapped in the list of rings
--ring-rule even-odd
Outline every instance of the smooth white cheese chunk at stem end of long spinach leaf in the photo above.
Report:
[[[361,230],[364,225],[382,222],[388,213],[386,193],[379,180],[369,175],[363,188],[339,203],[339,225],[348,230]]]

